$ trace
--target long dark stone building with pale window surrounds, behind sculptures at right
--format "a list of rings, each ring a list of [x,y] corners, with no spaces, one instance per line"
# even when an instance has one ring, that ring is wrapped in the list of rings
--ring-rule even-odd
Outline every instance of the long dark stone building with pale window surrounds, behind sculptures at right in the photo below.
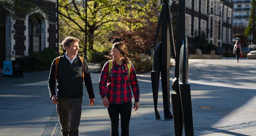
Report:
[[[172,13],[177,11],[176,1],[170,1]],[[230,0],[186,0],[185,35],[189,53],[195,54],[198,39],[218,47],[217,54],[232,48],[233,4]]]

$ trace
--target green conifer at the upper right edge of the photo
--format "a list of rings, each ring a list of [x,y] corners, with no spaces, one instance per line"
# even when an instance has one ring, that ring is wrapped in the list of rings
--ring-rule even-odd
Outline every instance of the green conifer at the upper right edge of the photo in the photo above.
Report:
[[[255,30],[255,27],[256,27],[256,24],[255,24],[255,21],[256,21],[256,0],[252,0],[251,1],[251,14],[250,14],[250,20],[249,20],[249,24],[247,26],[247,28],[245,29],[245,33],[244,35],[245,36],[249,36],[252,34],[252,37],[255,37],[255,34],[256,34],[256,30]],[[253,39],[252,43],[255,43],[255,39]]]

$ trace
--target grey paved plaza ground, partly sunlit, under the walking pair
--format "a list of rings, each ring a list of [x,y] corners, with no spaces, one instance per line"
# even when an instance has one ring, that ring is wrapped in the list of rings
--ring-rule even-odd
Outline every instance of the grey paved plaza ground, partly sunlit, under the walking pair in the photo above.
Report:
[[[89,106],[84,87],[79,135],[109,136],[109,116],[98,89],[100,73],[94,73],[99,66],[89,68],[95,104]],[[170,82],[174,70],[170,68]],[[256,60],[190,59],[188,73],[194,135],[256,136]],[[23,75],[0,74],[0,136],[61,136],[56,105],[49,98],[49,71]],[[132,111],[130,136],[174,136],[173,120],[164,119],[161,80],[157,107],[161,119],[156,120],[150,72],[137,78],[140,102],[139,109]]]

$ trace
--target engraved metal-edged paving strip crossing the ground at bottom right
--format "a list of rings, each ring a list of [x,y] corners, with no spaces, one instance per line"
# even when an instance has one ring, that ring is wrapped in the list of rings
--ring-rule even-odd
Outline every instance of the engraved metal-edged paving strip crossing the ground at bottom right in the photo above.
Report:
[[[227,125],[227,126],[220,126],[216,128],[194,130],[194,136],[212,134],[215,132],[222,132],[222,131],[228,131],[228,130],[234,130],[234,129],[240,129],[240,128],[248,128],[252,126],[256,126],[256,121],[244,122],[244,123]],[[183,135],[185,136],[185,132],[183,132]],[[175,136],[175,135],[171,134],[171,135],[164,135],[164,136]]]

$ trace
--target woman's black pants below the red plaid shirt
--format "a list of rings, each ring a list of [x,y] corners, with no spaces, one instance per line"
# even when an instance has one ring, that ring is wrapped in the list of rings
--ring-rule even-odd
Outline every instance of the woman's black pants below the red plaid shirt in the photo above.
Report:
[[[132,114],[132,101],[122,104],[109,103],[108,115],[111,122],[111,136],[119,136],[119,113],[121,118],[121,136],[129,136],[129,123]]]

